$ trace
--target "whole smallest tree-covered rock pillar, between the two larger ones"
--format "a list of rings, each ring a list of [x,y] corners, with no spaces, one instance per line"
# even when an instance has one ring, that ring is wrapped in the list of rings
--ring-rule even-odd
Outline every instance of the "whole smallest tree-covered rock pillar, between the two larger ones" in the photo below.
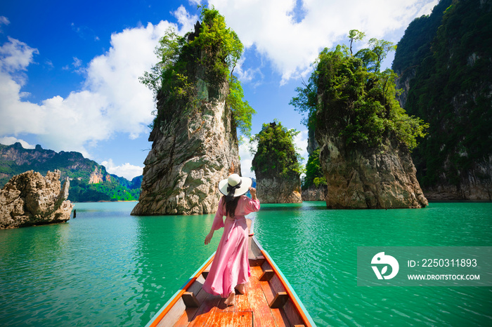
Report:
[[[251,142],[257,143],[252,170],[261,203],[301,203],[300,156],[294,146],[299,132],[280,122],[263,124]]]

